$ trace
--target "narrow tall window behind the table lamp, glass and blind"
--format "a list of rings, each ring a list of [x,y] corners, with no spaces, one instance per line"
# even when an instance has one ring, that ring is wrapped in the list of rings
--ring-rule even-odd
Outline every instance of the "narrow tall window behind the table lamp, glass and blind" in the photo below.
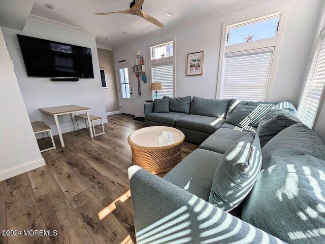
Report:
[[[163,90],[158,91],[157,98],[174,95],[173,42],[150,47],[151,82],[161,82]],[[155,91],[152,91],[152,97]]]

